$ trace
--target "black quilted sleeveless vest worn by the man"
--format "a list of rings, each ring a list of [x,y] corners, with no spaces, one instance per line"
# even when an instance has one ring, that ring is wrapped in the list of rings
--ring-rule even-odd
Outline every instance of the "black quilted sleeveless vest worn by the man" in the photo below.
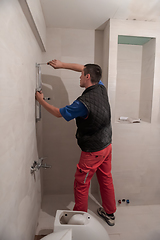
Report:
[[[96,152],[112,142],[111,112],[105,86],[96,84],[77,98],[88,109],[88,117],[76,118],[76,138],[84,152]]]

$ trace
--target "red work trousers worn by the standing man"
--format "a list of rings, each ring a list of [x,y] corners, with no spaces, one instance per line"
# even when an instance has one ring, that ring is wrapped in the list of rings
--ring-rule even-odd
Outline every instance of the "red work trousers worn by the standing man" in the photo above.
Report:
[[[102,206],[106,213],[111,214],[116,211],[114,186],[111,174],[112,145],[98,152],[83,152],[74,181],[74,211],[87,212],[88,191],[91,178],[96,172],[100,186]]]

